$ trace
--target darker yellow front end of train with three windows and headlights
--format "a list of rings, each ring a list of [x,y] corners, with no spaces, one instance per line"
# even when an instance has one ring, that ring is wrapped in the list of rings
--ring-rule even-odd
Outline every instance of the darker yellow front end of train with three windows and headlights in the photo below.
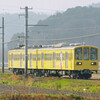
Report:
[[[74,49],[74,70],[80,72],[80,77],[90,78],[93,71],[99,69],[99,50],[93,46],[78,46]]]

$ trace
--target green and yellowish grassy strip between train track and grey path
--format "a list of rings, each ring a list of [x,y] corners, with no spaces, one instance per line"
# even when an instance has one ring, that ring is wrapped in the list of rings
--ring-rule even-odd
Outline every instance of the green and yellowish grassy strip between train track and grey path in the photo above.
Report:
[[[33,78],[27,80],[22,75],[0,74],[0,84],[37,87],[55,90],[69,90],[86,93],[100,93],[100,81],[73,80],[61,78]]]

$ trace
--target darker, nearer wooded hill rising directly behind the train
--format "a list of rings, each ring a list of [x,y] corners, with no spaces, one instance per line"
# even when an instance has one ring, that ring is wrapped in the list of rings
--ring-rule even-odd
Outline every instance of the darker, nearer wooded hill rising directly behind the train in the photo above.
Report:
[[[61,39],[100,33],[100,8],[70,8],[64,13],[57,13],[45,20],[40,20],[37,24],[48,26],[31,27],[29,29],[29,45],[85,42],[88,45],[94,45],[100,48],[100,36],[67,41],[33,41],[36,39]],[[16,36],[13,36],[13,38],[16,38]],[[19,42],[22,42],[22,40]],[[14,45],[16,46],[16,43]]]

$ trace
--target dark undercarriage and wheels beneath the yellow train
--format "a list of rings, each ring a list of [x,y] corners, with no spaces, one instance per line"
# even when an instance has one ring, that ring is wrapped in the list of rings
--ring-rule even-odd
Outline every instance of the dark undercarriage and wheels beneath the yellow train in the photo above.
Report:
[[[10,69],[15,75],[24,74],[24,69]],[[84,70],[49,70],[49,69],[29,69],[28,74],[36,77],[66,77],[71,79],[89,79],[92,76],[92,71]]]

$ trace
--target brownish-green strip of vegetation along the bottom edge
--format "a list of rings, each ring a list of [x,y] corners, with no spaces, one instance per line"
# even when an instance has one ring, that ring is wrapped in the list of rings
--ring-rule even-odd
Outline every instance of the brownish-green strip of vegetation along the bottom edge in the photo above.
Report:
[[[0,100],[90,100],[76,95],[9,95],[0,96]],[[96,99],[91,99],[96,100]]]

